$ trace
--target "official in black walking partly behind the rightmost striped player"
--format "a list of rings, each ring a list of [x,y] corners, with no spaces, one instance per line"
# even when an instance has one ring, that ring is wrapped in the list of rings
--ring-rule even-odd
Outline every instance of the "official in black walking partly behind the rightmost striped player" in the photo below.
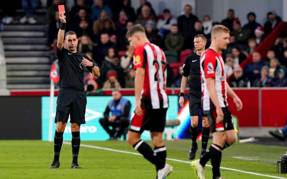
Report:
[[[196,143],[197,137],[197,125],[199,118],[199,111],[201,110],[201,81],[200,81],[200,55],[205,50],[206,37],[202,34],[194,37],[193,43],[196,49],[196,53],[193,53],[186,57],[181,80],[179,105],[184,106],[184,91],[186,88],[188,76],[190,77],[190,88],[189,88],[189,113],[190,113],[190,135],[192,140],[192,147],[188,153],[188,158],[193,160],[195,158],[196,151],[198,149]],[[201,110],[202,113],[202,110]],[[202,114],[203,115],[203,114]],[[206,152],[207,142],[209,138],[209,122],[207,117],[202,117],[202,148],[200,157]]]

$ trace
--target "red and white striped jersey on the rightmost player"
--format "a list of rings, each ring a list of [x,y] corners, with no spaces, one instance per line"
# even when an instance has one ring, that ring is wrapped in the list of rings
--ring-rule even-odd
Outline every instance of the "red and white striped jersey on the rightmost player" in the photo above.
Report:
[[[219,104],[222,108],[228,106],[224,61],[220,53],[207,49],[200,57],[201,91],[203,110],[210,110],[214,106],[206,86],[206,78],[215,78],[215,88]]]

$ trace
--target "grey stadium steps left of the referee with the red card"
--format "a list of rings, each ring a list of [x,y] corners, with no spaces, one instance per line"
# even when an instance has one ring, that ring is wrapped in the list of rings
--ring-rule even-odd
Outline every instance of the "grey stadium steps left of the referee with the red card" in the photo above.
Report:
[[[37,14],[38,19],[44,17],[44,12]],[[50,88],[53,52],[47,48],[46,30],[43,24],[4,25],[0,36],[4,44],[8,89]]]

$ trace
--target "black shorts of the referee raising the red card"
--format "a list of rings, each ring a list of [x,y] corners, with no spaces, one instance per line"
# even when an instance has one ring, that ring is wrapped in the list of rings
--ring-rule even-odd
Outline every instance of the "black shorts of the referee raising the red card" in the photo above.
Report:
[[[87,98],[84,91],[60,89],[57,98],[55,123],[68,122],[85,124]]]

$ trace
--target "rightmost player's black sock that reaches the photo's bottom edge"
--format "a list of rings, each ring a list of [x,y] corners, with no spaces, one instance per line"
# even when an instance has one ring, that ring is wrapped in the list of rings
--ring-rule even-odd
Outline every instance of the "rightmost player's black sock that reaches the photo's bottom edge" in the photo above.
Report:
[[[211,159],[211,165],[212,165],[212,173],[213,173],[213,179],[217,179],[220,177],[220,162],[221,162],[221,153],[222,153],[223,147],[212,144],[210,149],[210,159]]]

